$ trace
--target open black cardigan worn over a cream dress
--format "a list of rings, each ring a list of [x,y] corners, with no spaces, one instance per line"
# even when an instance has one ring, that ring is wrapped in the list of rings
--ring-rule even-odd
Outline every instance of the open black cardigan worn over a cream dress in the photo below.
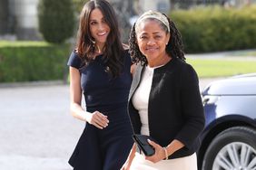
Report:
[[[137,65],[129,94],[129,116],[135,134],[141,133],[142,124],[132,97],[139,86],[143,68],[141,64]],[[148,106],[150,136],[161,146],[167,146],[173,139],[185,145],[169,156],[170,159],[190,156],[200,146],[199,135],[205,119],[198,84],[192,66],[180,59],[172,58],[154,70]]]

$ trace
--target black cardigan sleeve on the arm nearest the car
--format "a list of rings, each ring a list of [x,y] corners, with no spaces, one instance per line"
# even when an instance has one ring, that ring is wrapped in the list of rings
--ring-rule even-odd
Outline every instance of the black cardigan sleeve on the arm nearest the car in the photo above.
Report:
[[[180,93],[184,126],[175,137],[186,147],[191,148],[204,127],[205,118],[197,73],[191,65],[185,64],[180,76]]]

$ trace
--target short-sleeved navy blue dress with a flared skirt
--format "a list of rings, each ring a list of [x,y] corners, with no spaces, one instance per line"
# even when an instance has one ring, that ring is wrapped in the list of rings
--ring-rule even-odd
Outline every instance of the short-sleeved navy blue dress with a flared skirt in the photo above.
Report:
[[[69,164],[74,170],[117,170],[125,162],[133,146],[132,127],[127,114],[127,101],[132,82],[131,58],[123,53],[123,71],[112,78],[106,71],[103,55],[86,67],[77,53],[72,52],[68,65],[81,73],[81,87],[86,110],[102,112],[109,124],[99,129],[86,124]]]

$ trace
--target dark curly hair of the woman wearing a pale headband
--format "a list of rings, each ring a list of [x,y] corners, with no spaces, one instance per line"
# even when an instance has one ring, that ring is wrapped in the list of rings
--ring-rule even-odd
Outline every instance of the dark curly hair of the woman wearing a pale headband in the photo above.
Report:
[[[184,52],[183,52],[182,35],[178,31],[178,29],[176,28],[176,26],[172,22],[172,20],[170,20],[170,18],[167,16],[166,16],[166,18],[168,19],[168,22],[169,22],[171,38],[170,38],[168,44],[166,45],[165,51],[173,59],[180,58],[180,59],[182,59],[182,61],[185,61],[186,58],[184,57]],[[157,19],[153,19],[153,18],[149,18],[149,19],[157,21],[160,24],[160,26],[162,27],[162,30],[164,30],[166,33],[168,33],[166,25],[162,24],[162,22],[158,21]],[[142,65],[147,65],[147,63],[148,63],[147,59],[143,55],[143,53],[140,51],[139,46],[136,42],[135,24],[133,24],[133,28],[130,33],[129,46],[130,46],[129,52],[131,53],[133,62],[135,62],[135,63],[141,62]]]

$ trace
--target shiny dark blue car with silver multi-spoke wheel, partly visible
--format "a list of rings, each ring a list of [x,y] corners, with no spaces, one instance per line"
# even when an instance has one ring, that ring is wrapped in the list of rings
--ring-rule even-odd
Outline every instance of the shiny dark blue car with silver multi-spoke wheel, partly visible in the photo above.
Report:
[[[213,81],[202,101],[199,169],[256,170],[256,73]]]

